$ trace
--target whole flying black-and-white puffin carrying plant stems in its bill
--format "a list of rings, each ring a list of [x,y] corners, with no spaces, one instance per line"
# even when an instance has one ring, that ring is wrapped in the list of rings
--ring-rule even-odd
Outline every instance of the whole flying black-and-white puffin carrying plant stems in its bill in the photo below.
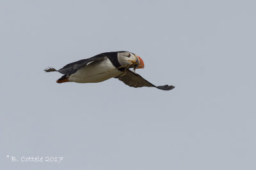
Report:
[[[172,85],[156,86],[145,80],[135,69],[144,67],[143,60],[131,52],[100,53],[89,59],[78,60],[62,67],[59,70],[49,67],[45,72],[58,71],[64,74],[57,83],[98,83],[109,78],[118,78],[130,87],[156,87],[161,90],[172,90]],[[133,68],[134,71],[131,71]]]

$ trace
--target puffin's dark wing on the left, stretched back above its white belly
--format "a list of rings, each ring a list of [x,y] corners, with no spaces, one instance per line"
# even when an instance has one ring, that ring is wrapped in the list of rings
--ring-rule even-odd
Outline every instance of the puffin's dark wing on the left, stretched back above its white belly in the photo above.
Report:
[[[99,61],[99,60],[104,60],[104,59],[107,59],[107,56],[99,54],[99,55],[95,55],[94,57],[91,57],[89,59],[83,59],[83,60],[78,60],[76,62],[72,62],[72,63],[67,64],[66,66],[62,67],[59,70],[56,70],[52,67],[49,67],[48,69],[45,69],[45,71],[46,72],[58,71],[61,74],[70,75],[70,74],[76,73],[77,70],[88,66],[92,62]]]

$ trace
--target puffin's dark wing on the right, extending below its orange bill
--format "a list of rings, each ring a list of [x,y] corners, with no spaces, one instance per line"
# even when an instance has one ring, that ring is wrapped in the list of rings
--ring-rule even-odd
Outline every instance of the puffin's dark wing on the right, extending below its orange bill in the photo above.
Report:
[[[127,69],[125,74],[122,74],[116,78],[118,78],[118,80],[120,81],[123,81],[125,85],[129,85],[130,87],[156,87],[157,89],[161,90],[172,90],[174,88],[174,86],[172,85],[153,85],[152,83],[141,77],[140,74],[134,73],[129,69]]]

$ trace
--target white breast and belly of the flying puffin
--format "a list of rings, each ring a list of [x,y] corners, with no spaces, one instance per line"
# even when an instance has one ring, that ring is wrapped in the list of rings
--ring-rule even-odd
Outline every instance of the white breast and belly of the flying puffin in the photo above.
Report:
[[[76,83],[98,83],[120,74],[123,74],[123,72],[116,69],[111,61],[106,58],[79,69],[76,73],[71,74],[68,80]]]

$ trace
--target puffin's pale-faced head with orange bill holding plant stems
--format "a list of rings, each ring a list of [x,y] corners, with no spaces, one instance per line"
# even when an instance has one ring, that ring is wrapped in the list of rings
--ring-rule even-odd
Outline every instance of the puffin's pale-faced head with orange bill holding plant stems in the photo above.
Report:
[[[144,62],[143,60],[136,54],[131,52],[118,52],[117,53],[117,59],[118,62],[122,66],[131,66],[136,69],[143,69],[144,68]]]

